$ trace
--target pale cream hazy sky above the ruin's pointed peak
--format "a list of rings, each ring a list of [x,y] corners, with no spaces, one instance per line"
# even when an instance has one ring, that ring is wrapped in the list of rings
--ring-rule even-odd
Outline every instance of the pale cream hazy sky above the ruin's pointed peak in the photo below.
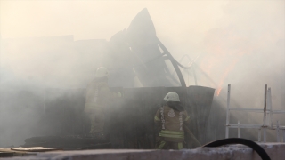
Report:
[[[232,70],[238,74],[227,83],[243,79],[234,76],[260,68],[272,55],[267,69],[283,68],[284,1],[1,1],[1,36],[109,40],[143,8],[175,59],[200,55],[200,67],[216,85]]]

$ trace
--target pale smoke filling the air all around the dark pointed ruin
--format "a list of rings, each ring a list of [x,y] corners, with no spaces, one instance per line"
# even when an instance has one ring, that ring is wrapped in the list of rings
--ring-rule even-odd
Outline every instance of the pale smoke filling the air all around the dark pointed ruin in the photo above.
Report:
[[[198,85],[216,88],[221,108],[227,84],[232,107],[262,108],[268,84],[273,108],[285,110],[284,1],[0,3],[0,147],[44,134],[30,131],[43,114],[45,88],[84,88],[102,65],[110,37],[143,8],[176,60],[184,54],[196,60]],[[192,71],[182,71],[186,84],[195,84]],[[285,124],[284,116],[276,119]]]

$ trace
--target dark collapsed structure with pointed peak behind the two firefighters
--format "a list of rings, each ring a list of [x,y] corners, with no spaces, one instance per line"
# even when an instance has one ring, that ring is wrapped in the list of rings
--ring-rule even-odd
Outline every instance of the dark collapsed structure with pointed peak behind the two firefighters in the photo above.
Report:
[[[62,51],[56,45],[62,41],[55,38],[45,38],[41,41],[53,45],[51,48],[47,47],[49,52],[81,53],[80,48],[85,48],[85,57],[91,55],[91,52],[101,52],[97,57],[88,57],[94,61],[94,66],[90,67],[109,68],[110,90],[123,94],[122,98],[117,98],[116,103],[106,109],[109,110],[106,113],[109,117],[106,120],[109,138],[98,141],[85,136],[90,126],[83,112],[85,88],[45,88],[37,92],[37,96],[35,92],[22,94],[30,100],[43,99],[43,102],[36,100],[42,108],[37,109],[40,117],[37,127],[33,127],[31,131],[38,136],[27,137],[23,147],[154,148],[158,131],[154,128],[153,116],[165,94],[171,91],[180,95],[184,108],[190,113],[189,128],[197,140],[205,143],[212,139],[208,136],[207,124],[215,89],[197,85],[186,86],[180,68],[190,67],[184,67],[176,61],[167,51],[167,47],[159,41],[147,9],[139,12],[130,26],[112,36],[109,42],[92,40],[73,43],[72,36],[61,36],[62,39],[66,46]],[[35,41],[38,40],[37,38]],[[29,43],[32,44],[33,41]],[[92,46],[94,44],[96,47]],[[42,50],[46,52],[45,49]],[[30,49],[28,47],[23,51],[30,52]],[[138,81],[141,87],[135,87],[135,81]],[[14,94],[17,95],[18,93]],[[8,97],[3,99],[9,100]],[[190,139],[191,137],[188,137],[186,148],[196,147],[197,144]]]

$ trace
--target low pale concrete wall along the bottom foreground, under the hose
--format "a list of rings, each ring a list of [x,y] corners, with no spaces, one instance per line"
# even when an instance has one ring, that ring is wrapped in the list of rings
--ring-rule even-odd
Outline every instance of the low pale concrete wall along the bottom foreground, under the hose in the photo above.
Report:
[[[271,159],[285,159],[285,143],[260,144],[265,149]],[[134,150],[134,149],[104,149],[104,150],[84,150],[84,151],[61,151],[39,153],[37,156],[12,157],[9,159],[41,159],[41,160],[246,160],[261,159],[252,148],[243,145],[231,145],[222,148],[195,148],[184,150]]]

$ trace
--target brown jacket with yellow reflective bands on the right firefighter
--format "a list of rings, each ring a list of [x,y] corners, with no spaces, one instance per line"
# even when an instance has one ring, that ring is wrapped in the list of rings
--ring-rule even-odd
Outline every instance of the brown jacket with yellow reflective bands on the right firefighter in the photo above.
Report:
[[[186,110],[178,111],[166,105],[159,108],[154,116],[154,122],[161,126],[159,137],[163,140],[183,142],[184,124],[190,123],[190,116]]]

